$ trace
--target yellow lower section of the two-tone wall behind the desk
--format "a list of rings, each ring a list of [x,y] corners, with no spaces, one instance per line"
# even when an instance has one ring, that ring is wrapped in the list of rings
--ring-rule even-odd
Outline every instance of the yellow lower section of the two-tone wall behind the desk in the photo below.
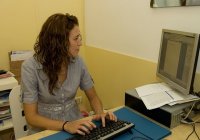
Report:
[[[106,109],[123,105],[126,90],[159,82],[156,78],[157,64],[151,61],[89,46],[86,47],[86,60]],[[199,81],[200,74],[197,74],[195,91],[200,90]]]

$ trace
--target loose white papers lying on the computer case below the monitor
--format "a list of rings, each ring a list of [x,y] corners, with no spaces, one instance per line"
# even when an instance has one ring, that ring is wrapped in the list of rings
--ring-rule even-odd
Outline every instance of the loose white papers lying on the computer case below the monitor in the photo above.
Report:
[[[199,100],[194,95],[184,95],[174,91],[165,83],[147,84],[136,88],[139,97],[147,109],[155,109],[163,105],[175,105],[189,101]]]

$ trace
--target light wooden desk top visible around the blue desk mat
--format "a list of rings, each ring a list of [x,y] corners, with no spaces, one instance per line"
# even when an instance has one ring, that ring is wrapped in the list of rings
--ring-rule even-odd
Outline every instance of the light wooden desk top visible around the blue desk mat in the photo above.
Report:
[[[115,111],[119,108],[121,108],[121,107],[114,108],[111,111]],[[200,114],[197,117],[195,117],[195,119],[197,119],[199,117],[200,117]],[[191,125],[181,124],[173,129],[171,129],[172,134],[170,136],[166,137],[165,139],[166,140],[184,140],[192,132],[192,130],[193,129],[192,129]],[[42,132],[20,138],[19,140],[38,140],[40,138],[55,134],[57,132],[59,132],[59,131],[44,130]],[[196,132],[197,132],[197,134],[200,134],[200,123],[196,124]],[[192,134],[192,136],[190,136],[189,140],[198,140],[198,138],[196,137],[195,134]]]

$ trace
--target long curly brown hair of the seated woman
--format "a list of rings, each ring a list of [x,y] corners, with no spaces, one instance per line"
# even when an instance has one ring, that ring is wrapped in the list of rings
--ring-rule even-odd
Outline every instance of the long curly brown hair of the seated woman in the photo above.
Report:
[[[34,44],[34,58],[42,64],[43,71],[49,77],[48,88],[52,95],[61,65],[70,62],[69,33],[78,25],[78,19],[73,15],[54,14],[45,21]]]

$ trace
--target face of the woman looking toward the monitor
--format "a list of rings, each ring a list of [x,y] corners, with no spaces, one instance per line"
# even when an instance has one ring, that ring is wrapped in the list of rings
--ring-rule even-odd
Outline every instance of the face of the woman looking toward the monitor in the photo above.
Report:
[[[82,45],[82,38],[79,27],[74,26],[74,28],[69,33],[69,53],[72,57],[78,55],[81,45]]]

